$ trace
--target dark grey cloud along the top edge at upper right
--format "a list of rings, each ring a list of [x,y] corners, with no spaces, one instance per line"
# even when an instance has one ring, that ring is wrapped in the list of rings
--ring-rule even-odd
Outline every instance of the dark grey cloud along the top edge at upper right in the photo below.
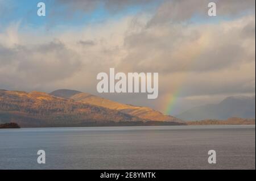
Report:
[[[155,15],[148,22],[147,27],[161,24],[188,22],[193,17],[208,18],[208,3],[210,0],[174,0],[165,1],[158,7]],[[255,1],[225,0],[216,2],[217,16],[236,16],[244,12],[255,13]]]

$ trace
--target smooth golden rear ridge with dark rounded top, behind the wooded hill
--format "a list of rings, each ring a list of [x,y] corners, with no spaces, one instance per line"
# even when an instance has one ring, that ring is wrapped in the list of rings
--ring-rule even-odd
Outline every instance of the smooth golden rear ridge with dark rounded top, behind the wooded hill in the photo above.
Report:
[[[94,106],[100,106],[104,108],[109,108],[110,110],[116,110],[122,113],[126,113],[131,116],[139,117],[141,119],[147,119],[152,121],[175,121],[182,122],[176,117],[169,115],[163,115],[163,113],[153,110],[149,107],[139,107],[132,106],[129,104],[122,104],[114,102],[112,100],[104,99],[99,96],[92,94],[87,94],[84,92],[79,92],[75,90],[56,90],[50,93],[54,96],[59,96],[61,98],[68,98],[71,100],[76,100],[77,102],[92,104]]]

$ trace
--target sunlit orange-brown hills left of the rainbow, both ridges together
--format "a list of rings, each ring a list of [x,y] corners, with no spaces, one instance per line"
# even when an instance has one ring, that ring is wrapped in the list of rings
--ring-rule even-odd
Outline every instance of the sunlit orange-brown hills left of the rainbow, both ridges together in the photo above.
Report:
[[[20,127],[184,124],[147,107],[113,102],[74,90],[24,92],[0,90],[0,123]]]

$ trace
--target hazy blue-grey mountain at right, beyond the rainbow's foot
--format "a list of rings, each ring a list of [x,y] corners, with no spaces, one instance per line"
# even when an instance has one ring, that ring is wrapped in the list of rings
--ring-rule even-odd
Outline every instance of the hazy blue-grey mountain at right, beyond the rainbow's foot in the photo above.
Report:
[[[255,119],[255,96],[230,96],[218,104],[195,107],[176,117],[182,120],[226,120],[229,117]]]

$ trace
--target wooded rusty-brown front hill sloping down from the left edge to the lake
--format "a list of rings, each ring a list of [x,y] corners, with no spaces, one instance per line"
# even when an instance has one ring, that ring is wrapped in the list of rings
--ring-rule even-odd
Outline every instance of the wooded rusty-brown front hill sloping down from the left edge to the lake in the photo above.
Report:
[[[65,98],[65,96],[81,94],[79,91],[64,91],[64,93],[65,95],[61,95],[59,91],[59,96]],[[37,91],[0,90],[0,124],[17,123],[20,127],[155,124],[155,120],[142,119],[118,110],[64,99],[59,96]],[[159,122],[167,123],[167,121]],[[180,123],[168,121],[168,124],[177,125]]]

